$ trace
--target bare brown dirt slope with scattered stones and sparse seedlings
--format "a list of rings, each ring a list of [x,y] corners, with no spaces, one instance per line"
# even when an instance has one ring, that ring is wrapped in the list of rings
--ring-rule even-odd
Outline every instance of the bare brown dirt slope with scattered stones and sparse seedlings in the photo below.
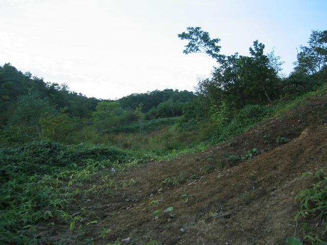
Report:
[[[325,101],[313,100],[204,152],[102,173],[82,188],[103,186],[109,176],[117,189],[81,194],[71,210],[84,207],[91,211],[88,220],[98,223],[87,225],[86,220],[74,232],[69,225],[43,224],[41,244],[83,244],[90,238],[108,244],[118,237],[130,237],[133,244],[150,239],[167,245],[285,244],[285,238],[294,235],[299,208],[294,197],[313,183],[301,179],[301,173],[327,165],[326,108]],[[289,141],[278,144],[278,136]],[[246,151],[253,148],[259,154],[246,159]],[[154,200],[157,204],[150,205]],[[168,207],[174,207],[174,218],[152,213]],[[299,228],[305,222],[317,223],[300,219],[298,236],[303,237]],[[101,238],[103,227],[111,232]],[[314,227],[321,231],[321,224]]]

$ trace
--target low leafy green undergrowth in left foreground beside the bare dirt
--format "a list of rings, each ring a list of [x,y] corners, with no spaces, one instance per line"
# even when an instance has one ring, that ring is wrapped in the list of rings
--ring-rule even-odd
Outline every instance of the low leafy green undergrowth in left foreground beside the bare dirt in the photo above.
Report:
[[[73,230],[81,216],[72,217],[66,210],[78,193],[75,184],[91,180],[100,169],[132,161],[139,161],[138,156],[102,145],[41,140],[1,147],[0,243],[33,242],[29,228],[52,218],[70,223]]]

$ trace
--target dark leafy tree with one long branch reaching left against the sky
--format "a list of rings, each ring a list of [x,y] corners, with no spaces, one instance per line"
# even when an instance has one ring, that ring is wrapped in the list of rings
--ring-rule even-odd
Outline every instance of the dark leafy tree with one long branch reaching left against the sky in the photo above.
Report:
[[[197,92],[208,98],[211,106],[216,101],[219,107],[222,101],[236,107],[244,107],[247,103],[270,103],[276,89],[280,62],[273,55],[264,54],[265,45],[258,40],[249,48],[250,57],[220,54],[220,39],[211,39],[201,28],[189,27],[188,32],[178,35],[189,40],[183,53],[205,52],[217,60],[212,79],[199,82]],[[271,58],[271,60],[270,60]],[[208,104],[208,103],[207,103]]]

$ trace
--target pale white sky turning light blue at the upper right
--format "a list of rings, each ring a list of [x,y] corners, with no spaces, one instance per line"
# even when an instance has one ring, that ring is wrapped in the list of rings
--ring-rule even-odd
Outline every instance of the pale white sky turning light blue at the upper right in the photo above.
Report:
[[[326,13],[325,0],[0,0],[0,65],[98,99],[194,91],[215,60],[182,53],[187,27],[220,38],[226,55],[248,55],[258,39],[289,74]]]

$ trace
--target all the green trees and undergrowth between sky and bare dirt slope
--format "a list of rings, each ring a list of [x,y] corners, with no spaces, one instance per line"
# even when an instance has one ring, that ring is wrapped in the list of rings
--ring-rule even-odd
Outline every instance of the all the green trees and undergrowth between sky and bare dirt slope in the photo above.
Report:
[[[203,151],[326,88],[327,31],[312,31],[289,75],[259,40],[241,56],[221,54],[220,39],[200,27],[178,37],[188,41],[184,54],[206,53],[217,62],[195,92],[97,99],[0,66],[0,243],[38,244],[33,227],[47,220],[82,226],[69,207],[81,183],[102,169]]]

